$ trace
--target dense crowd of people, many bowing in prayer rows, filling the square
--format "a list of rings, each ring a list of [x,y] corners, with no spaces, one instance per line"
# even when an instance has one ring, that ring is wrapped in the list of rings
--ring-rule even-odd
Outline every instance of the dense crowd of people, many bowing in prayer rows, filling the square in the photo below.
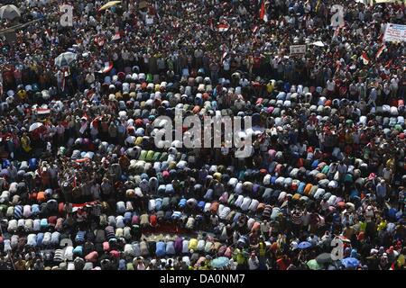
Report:
[[[405,268],[404,3],[103,4],[0,23],[3,269]],[[175,109],[251,116],[251,156],[157,148]]]

